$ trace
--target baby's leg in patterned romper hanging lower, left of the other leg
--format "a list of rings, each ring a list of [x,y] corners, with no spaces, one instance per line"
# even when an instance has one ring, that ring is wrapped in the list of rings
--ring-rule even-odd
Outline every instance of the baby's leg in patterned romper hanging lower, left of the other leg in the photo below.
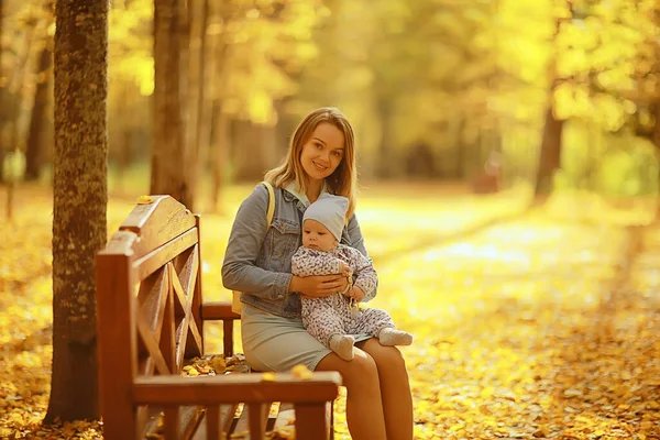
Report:
[[[353,359],[355,338],[345,334],[342,319],[323,299],[302,300],[302,323],[307,331],[344,361]]]

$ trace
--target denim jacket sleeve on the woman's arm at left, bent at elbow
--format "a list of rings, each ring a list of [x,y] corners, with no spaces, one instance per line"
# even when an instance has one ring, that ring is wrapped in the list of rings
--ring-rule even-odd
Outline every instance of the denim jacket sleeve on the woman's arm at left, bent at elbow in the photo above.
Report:
[[[243,200],[231,228],[224,262],[222,285],[231,290],[277,299],[286,296],[292,274],[271,272],[256,266],[266,238],[268,190],[258,185]]]

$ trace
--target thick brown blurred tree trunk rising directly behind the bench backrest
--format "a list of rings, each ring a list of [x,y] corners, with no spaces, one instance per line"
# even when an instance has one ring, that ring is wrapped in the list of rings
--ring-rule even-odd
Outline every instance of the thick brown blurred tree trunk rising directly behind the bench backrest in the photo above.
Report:
[[[194,209],[182,117],[182,19],[178,0],[154,3],[154,127],[151,194],[167,194]]]

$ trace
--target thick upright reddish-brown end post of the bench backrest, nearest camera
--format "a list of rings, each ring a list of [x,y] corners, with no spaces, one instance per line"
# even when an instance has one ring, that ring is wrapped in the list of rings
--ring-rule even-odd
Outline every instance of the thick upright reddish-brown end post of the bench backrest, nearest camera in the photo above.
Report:
[[[96,257],[99,402],[108,440],[123,440],[127,432],[132,437],[138,431],[132,402],[138,340],[131,240],[134,234],[114,234]]]

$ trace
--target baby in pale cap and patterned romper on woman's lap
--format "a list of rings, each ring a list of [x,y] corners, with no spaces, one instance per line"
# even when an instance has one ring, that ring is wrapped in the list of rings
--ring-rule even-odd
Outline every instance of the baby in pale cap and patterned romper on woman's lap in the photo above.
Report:
[[[373,293],[378,278],[369,258],[340,243],[348,207],[345,197],[321,194],[307,208],[302,246],[293,256],[292,272],[296,276],[341,274],[349,278],[344,292],[324,298],[301,298],[301,302],[307,331],[341,359],[351,361],[355,336],[373,336],[383,345],[410,345],[413,336],[397,330],[385,310],[360,309],[354,304]]]

